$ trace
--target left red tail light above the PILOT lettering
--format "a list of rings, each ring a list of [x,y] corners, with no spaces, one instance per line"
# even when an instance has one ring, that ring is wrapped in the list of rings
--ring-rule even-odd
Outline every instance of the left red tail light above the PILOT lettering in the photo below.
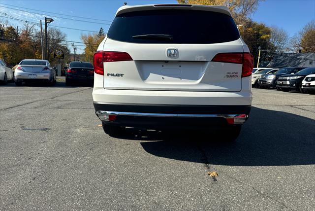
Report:
[[[123,62],[132,61],[130,55],[126,52],[118,51],[97,51],[94,54],[93,64],[96,74],[104,75],[104,62]]]

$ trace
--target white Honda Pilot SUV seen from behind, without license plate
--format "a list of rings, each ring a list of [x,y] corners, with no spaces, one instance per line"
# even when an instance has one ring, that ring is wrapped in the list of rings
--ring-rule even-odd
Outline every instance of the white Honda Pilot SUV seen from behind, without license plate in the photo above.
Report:
[[[94,55],[96,115],[109,135],[214,127],[235,140],[251,110],[252,67],[224,6],[122,6]]]

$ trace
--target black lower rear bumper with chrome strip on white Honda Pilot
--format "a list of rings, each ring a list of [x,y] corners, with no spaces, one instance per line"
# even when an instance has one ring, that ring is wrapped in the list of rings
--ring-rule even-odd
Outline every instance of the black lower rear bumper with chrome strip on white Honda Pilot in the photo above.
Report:
[[[207,127],[243,124],[251,106],[104,104],[94,102],[105,124],[128,127]]]

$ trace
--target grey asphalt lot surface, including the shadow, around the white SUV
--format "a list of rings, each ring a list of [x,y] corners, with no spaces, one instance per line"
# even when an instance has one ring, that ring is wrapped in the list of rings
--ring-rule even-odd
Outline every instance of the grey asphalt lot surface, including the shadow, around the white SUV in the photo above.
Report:
[[[91,87],[1,85],[0,210],[315,210],[315,95],[253,89],[234,143],[100,124]]]

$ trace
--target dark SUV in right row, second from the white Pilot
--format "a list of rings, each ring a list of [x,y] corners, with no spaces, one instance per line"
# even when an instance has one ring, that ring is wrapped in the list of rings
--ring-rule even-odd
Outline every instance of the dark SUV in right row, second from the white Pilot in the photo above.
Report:
[[[276,88],[277,80],[281,75],[294,74],[303,69],[304,68],[291,68],[290,67],[290,68],[282,68],[273,74],[263,74],[258,79],[258,84],[261,88],[264,88],[264,89]]]

